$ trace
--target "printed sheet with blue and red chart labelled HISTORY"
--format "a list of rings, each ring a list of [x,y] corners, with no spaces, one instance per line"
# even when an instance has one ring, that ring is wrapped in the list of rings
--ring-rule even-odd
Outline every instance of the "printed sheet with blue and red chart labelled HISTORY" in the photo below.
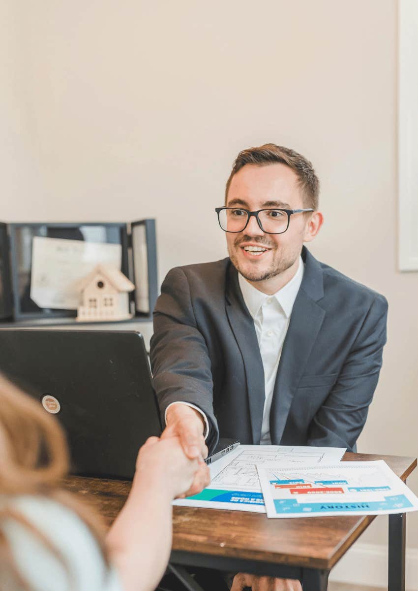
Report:
[[[418,511],[418,499],[383,460],[257,465],[267,517],[384,515]]]

